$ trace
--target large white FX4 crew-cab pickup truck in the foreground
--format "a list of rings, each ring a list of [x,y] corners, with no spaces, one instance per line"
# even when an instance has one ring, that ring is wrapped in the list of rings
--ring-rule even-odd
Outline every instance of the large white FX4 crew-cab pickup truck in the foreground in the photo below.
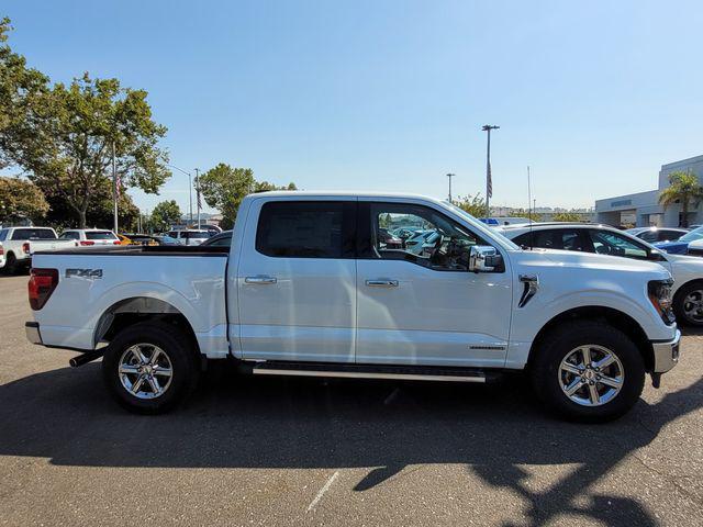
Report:
[[[435,249],[379,229],[436,229]],[[487,382],[527,370],[562,416],[606,421],[679,358],[671,276],[602,255],[522,250],[451,204],[400,194],[265,192],[231,247],[36,254],[31,341],[102,359],[119,403],[158,413],[205,359],[238,370]]]

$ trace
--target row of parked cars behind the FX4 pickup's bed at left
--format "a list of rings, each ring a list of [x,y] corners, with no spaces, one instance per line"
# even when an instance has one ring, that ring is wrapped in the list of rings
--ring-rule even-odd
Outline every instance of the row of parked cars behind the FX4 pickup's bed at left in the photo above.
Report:
[[[115,234],[104,228],[69,228],[60,235],[52,227],[16,226],[0,228],[0,270],[27,270],[36,251],[80,248],[104,249],[118,245],[200,245],[219,229],[180,229],[164,235]]]

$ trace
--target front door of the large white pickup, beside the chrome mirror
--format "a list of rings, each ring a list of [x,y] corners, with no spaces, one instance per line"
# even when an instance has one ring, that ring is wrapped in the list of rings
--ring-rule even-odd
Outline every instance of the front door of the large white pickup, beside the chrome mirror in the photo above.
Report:
[[[400,228],[428,235],[400,248],[379,236]],[[357,363],[504,365],[512,282],[505,269],[468,272],[480,236],[440,210],[365,200],[358,233]]]

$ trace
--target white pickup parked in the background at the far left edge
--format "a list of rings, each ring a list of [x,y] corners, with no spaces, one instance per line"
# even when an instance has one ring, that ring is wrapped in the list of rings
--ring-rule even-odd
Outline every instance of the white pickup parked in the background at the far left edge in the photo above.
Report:
[[[29,269],[35,250],[57,250],[58,246],[67,248],[58,242],[56,231],[51,227],[0,228],[0,244],[3,253],[0,257],[0,268],[10,273]],[[70,246],[75,247],[75,244]]]

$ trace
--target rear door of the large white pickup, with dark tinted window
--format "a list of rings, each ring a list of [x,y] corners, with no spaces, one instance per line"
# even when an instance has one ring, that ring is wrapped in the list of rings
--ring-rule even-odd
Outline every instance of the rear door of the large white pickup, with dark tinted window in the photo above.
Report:
[[[349,200],[253,202],[237,271],[245,359],[354,362],[355,211]]]

